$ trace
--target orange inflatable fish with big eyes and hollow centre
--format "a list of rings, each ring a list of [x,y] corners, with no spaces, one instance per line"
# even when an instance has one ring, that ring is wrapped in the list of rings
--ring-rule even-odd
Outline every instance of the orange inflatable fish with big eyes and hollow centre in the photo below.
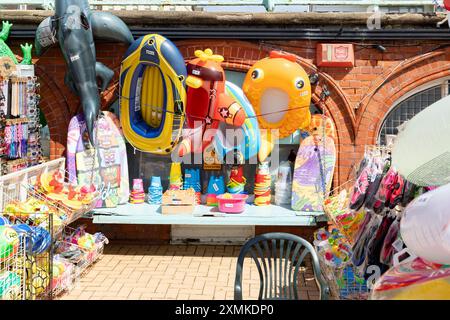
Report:
[[[242,89],[256,112],[259,128],[264,129],[260,161],[272,151],[271,130],[278,130],[282,139],[309,126],[311,84],[294,55],[272,51],[250,68]]]

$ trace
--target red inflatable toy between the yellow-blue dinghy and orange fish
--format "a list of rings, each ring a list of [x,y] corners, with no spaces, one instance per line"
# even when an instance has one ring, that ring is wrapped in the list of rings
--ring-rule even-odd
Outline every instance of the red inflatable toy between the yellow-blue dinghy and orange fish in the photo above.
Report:
[[[188,128],[192,129],[188,132],[196,132],[201,139],[189,133],[180,145],[178,154],[181,157],[191,152],[203,152],[221,122],[241,127],[246,118],[244,108],[225,92],[223,57],[214,55],[211,49],[197,50],[195,56],[187,64],[186,119]]]

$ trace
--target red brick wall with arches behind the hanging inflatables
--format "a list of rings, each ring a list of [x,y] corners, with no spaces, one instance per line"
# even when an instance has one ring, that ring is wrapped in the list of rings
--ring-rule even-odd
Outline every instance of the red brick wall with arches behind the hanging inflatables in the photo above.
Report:
[[[14,52],[18,43],[9,41]],[[283,49],[301,57],[307,72],[313,72],[315,41],[244,42],[237,40],[184,40],[175,42],[188,60],[196,49],[210,47],[225,56],[225,68],[246,71],[272,49]],[[450,48],[436,49],[438,42],[385,41],[384,53],[370,46],[355,45],[354,68],[321,68],[321,83],[315,87],[313,100],[318,101],[321,86],[331,92],[326,112],[337,127],[338,170],[335,185],[347,181],[352,166],[359,160],[364,145],[374,144],[386,113],[394,101],[424,83],[450,76]],[[126,48],[118,44],[97,44],[98,60],[116,71],[114,82],[103,94],[103,108],[117,96],[120,62]],[[430,52],[432,51],[432,52]],[[35,58],[36,73],[42,85],[41,108],[48,120],[52,158],[64,155],[67,126],[79,110],[78,99],[64,85],[65,65],[59,48]]]

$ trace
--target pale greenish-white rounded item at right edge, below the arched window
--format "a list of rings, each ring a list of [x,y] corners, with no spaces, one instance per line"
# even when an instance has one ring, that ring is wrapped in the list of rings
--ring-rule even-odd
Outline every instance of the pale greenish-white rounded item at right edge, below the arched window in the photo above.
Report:
[[[419,186],[450,183],[450,96],[406,122],[392,148],[392,165]]]

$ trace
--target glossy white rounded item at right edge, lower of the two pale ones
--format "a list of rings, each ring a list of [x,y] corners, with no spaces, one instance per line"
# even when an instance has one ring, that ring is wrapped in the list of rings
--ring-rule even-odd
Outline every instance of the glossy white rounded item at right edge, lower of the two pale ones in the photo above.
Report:
[[[422,194],[406,207],[400,233],[409,250],[434,263],[450,264],[450,184]]]

